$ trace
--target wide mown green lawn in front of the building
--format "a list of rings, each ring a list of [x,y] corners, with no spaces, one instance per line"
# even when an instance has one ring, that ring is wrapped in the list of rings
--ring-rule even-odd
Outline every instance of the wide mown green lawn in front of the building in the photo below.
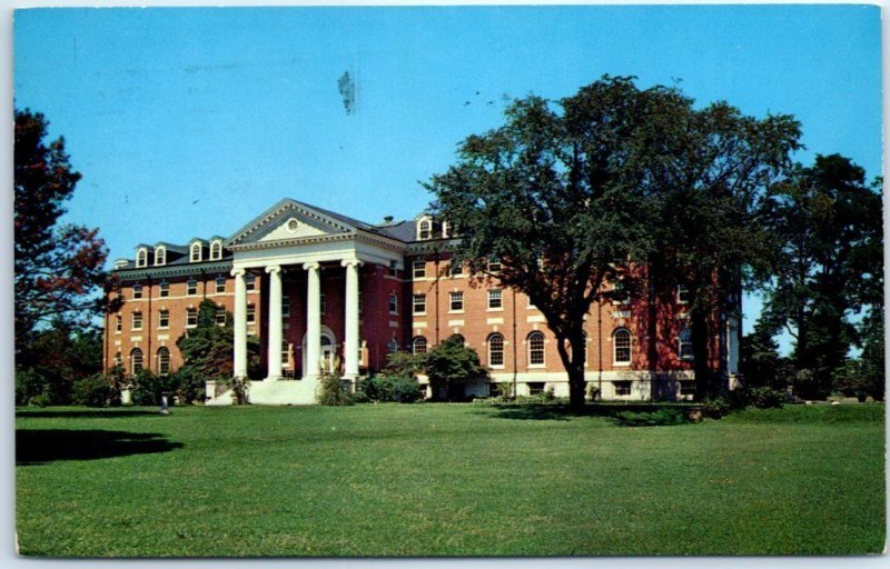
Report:
[[[864,553],[882,405],[621,427],[553,407],[19,410],[31,556]]]

